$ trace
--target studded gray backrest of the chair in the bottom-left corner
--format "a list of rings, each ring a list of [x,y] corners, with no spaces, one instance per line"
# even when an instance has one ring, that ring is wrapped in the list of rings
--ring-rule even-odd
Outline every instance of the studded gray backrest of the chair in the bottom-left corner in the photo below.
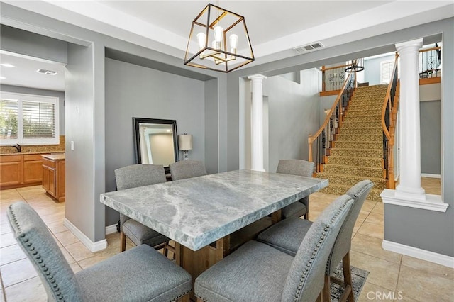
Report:
[[[38,213],[19,201],[8,208],[14,237],[31,260],[48,294],[48,301],[83,301],[70,265]]]

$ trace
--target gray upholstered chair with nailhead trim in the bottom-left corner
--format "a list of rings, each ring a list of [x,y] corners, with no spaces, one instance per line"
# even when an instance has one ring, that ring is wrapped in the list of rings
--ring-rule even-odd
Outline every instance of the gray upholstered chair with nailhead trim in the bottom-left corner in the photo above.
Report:
[[[31,260],[48,301],[189,301],[191,276],[148,245],[140,245],[74,274],[31,206],[11,204],[14,236]]]

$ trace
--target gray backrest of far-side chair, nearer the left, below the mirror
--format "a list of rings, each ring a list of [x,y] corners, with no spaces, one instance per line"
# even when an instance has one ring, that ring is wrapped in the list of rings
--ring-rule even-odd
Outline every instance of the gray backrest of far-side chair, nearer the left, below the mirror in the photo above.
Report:
[[[132,164],[116,169],[115,180],[117,190],[150,186],[166,181],[162,164]]]

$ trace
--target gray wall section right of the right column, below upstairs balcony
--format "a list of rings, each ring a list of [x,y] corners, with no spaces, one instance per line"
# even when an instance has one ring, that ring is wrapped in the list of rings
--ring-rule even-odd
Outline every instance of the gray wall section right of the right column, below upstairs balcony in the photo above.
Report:
[[[421,173],[441,174],[441,101],[421,101]]]

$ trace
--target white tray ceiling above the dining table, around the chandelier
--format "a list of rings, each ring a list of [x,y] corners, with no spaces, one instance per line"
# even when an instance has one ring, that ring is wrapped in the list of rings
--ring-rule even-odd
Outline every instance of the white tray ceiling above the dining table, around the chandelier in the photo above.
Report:
[[[5,2],[181,59],[192,21],[209,3],[206,0]],[[292,48],[317,41],[332,47],[454,16],[452,0],[219,0],[211,3],[245,17],[256,59],[252,65],[298,55]],[[55,87],[55,90],[63,89],[61,84]]]

